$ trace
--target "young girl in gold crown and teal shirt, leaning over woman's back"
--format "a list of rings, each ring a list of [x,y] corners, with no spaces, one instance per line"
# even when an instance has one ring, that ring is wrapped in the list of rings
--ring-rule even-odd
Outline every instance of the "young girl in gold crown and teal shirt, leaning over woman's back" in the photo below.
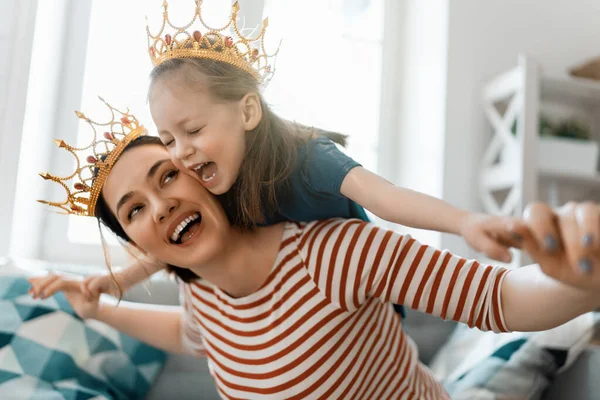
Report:
[[[195,31],[191,24],[174,27],[164,7],[160,32],[148,31],[155,65],[148,94],[152,118],[173,162],[224,198],[234,224],[368,221],[365,208],[397,224],[461,235],[473,249],[510,261],[508,243],[500,239],[504,218],[397,187],[341,152],[336,143],[344,144],[343,135],[278,117],[259,90],[274,72],[262,42],[266,25],[253,38],[223,33],[239,33],[237,3],[218,30],[204,24],[201,3],[192,19]],[[114,293],[163,267],[139,262],[116,274],[117,285],[100,276],[90,278],[88,288]]]

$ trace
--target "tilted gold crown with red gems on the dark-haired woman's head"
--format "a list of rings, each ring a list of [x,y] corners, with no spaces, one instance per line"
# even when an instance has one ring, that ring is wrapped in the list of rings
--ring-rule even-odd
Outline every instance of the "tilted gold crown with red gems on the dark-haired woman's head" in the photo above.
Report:
[[[59,148],[67,150],[75,157],[77,164],[75,171],[64,177],[51,175],[48,172],[40,174],[42,178],[61,185],[67,193],[67,198],[62,202],[38,200],[40,203],[58,207],[67,214],[93,217],[104,182],[119,155],[134,139],[147,134],[146,128],[129,113],[129,109],[122,112],[101,97],[99,99],[111,112],[109,122],[95,122],[83,113],[75,111],[80,119],[92,127],[93,138],[89,145],[77,148],[62,140],[54,141]],[[73,185],[72,188],[70,184]]]

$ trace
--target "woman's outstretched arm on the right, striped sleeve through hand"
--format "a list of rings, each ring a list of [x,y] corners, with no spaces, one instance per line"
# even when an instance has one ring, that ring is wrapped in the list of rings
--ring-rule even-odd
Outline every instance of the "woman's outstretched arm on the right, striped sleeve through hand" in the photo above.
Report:
[[[573,215],[569,218],[576,221]],[[582,242],[580,232],[567,224],[567,217],[550,217],[560,222],[553,235],[562,247],[548,252],[538,245],[543,218],[515,222],[521,244],[541,267],[511,271],[440,252],[359,221],[320,222],[308,228],[300,242],[316,282],[343,309],[378,297],[483,330],[535,331],[600,306],[598,290],[586,287],[588,280],[572,268],[573,260],[579,260],[573,247]],[[600,223],[596,226],[600,229]],[[587,249],[586,256],[600,269],[598,250]],[[591,282],[597,282],[594,273],[589,275]]]

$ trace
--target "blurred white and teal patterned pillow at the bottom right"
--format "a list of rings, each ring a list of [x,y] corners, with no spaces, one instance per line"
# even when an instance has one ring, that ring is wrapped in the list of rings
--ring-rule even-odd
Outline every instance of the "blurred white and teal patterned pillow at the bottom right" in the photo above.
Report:
[[[497,335],[458,329],[432,369],[438,378],[445,378],[453,399],[540,399],[586,348],[595,323],[596,316],[588,313],[542,332]],[[462,360],[452,354],[457,351]],[[451,369],[449,376],[440,376]]]

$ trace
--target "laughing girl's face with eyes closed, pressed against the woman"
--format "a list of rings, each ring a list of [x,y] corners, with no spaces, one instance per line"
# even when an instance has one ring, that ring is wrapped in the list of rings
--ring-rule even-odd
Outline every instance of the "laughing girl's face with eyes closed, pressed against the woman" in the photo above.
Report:
[[[182,79],[161,79],[150,94],[152,118],[174,164],[214,194],[227,192],[237,180],[246,132],[258,124],[249,96],[256,97],[217,101],[206,89],[191,88]]]

